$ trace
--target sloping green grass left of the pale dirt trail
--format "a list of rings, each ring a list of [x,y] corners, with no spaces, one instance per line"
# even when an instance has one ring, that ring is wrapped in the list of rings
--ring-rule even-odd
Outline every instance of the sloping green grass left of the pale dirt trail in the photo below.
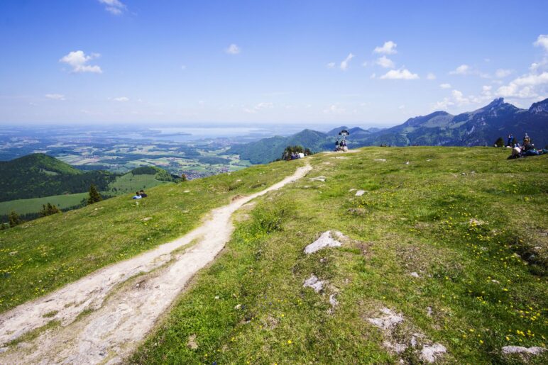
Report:
[[[119,196],[2,230],[0,312],[180,237],[212,208],[237,194],[265,189],[297,165],[270,164],[163,184],[148,189],[148,198],[139,201],[132,194]]]

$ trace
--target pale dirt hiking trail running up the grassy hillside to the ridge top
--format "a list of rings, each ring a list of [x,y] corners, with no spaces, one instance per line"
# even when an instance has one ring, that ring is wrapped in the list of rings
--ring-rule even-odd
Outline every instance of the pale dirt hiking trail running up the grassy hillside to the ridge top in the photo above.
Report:
[[[150,332],[199,269],[213,261],[234,231],[243,204],[305,176],[312,167],[258,193],[212,210],[198,228],[132,259],[106,266],[0,315],[0,364],[117,364]],[[186,245],[190,245],[184,249]],[[136,276],[137,274],[141,274]],[[29,342],[7,343],[55,320]]]

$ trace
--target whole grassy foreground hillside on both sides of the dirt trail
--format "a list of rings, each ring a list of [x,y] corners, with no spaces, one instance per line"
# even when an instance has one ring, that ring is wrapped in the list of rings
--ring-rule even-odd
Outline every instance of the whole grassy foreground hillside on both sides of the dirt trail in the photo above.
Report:
[[[237,213],[231,242],[129,362],[519,363],[503,347],[545,347],[548,337],[548,156],[507,155],[319,154],[158,186],[138,204],[125,196],[41,218],[0,232],[0,308],[188,232],[210,208],[308,162],[307,179]],[[341,247],[303,252],[328,230],[344,234],[332,234]],[[127,285],[153,289],[143,276]],[[131,299],[114,289],[116,300]],[[52,331],[65,326],[50,318]],[[0,362],[40,346],[32,336],[19,342]]]

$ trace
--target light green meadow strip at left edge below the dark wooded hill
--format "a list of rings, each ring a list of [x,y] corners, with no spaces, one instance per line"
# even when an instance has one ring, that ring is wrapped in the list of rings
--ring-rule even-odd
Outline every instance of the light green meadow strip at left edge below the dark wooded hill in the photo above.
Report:
[[[15,201],[0,202],[0,215],[7,215],[12,210],[18,214],[38,213],[44,204],[51,203],[60,209],[77,206],[82,199],[87,198],[87,193],[63,194],[45,196],[43,198],[18,199]]]

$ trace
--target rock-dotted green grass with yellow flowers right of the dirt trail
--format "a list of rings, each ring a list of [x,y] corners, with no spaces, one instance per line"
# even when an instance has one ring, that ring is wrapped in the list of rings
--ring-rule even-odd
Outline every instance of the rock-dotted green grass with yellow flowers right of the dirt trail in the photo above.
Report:
[[[312,157],[310,176],[327,181],[302,179],[240,212],[224,254],[130,362],[393,363],[366,320],[386,306],[403,313],[407,330],[444,344],[446,362],[520,363],[500,348],[545,347],[548,337],[548,164],[507,155],[373,147]],[[353,243],[305,255],[325,230]],[[312,273],[329,281],[324,293],[302,288]],[[330,294],[339,301],[332,312]],[[412,352],[402,357],[417,363]]]

